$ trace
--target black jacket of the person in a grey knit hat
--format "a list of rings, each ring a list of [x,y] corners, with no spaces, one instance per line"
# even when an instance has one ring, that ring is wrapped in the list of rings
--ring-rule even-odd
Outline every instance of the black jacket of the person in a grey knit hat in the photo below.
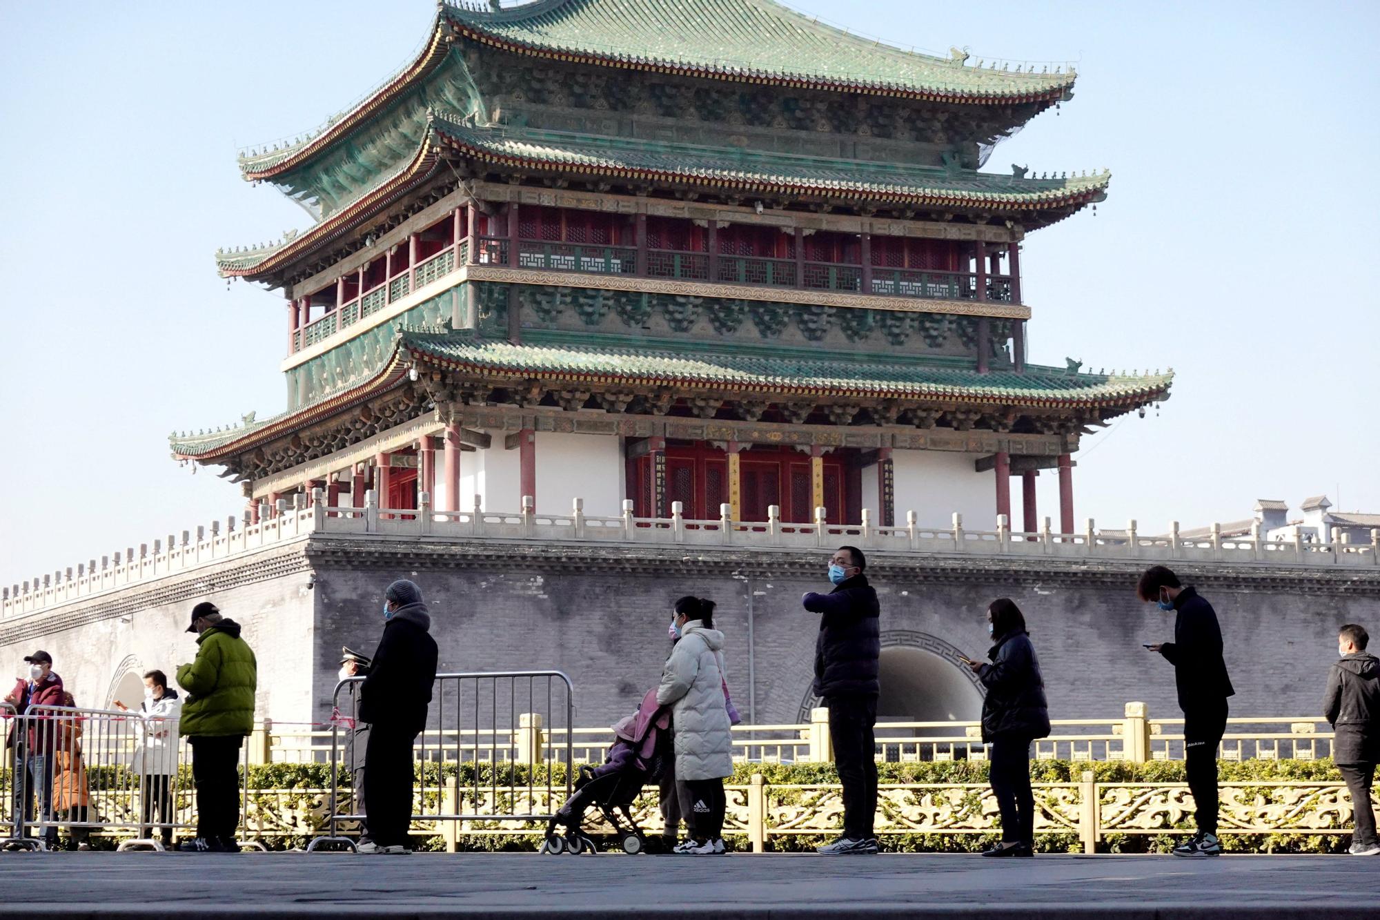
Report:
[[[431,637],[425,604],[399,608],[384,624],[384,638],[359,688],[359,717],[374,731],[415,735],[426,727],[436,640]]]

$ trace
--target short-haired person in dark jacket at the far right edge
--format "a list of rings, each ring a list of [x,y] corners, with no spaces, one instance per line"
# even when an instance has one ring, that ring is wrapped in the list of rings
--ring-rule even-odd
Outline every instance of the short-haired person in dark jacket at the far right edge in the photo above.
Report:
[[[1347,623],[1337,631],[1340,660],[1328,673],[1322,714],[1334,731],[1332,760],[1351,792],[1355,832],[1354,856],[1380,855],[1370,783],[1380,760],[1380,660],[1366,652],[1370,635],[1363,626]]]

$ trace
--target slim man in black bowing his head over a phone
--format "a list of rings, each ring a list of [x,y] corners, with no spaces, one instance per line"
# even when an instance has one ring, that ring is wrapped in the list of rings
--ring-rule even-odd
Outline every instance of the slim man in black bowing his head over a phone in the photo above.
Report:
[[[1217,840],[1217,745],[1227,731],[1227,698],[1236,691],[1221,656],[1217,613],[1190,584],[1163,565],[1140,576],[1136,595],[1174,613],[1174,641],[1147,645],[1174,666],[1179,709],[1184,711],[1184,774],[1194,796],[1198,833],[1174,847],[1176,856],[1216,856]]]

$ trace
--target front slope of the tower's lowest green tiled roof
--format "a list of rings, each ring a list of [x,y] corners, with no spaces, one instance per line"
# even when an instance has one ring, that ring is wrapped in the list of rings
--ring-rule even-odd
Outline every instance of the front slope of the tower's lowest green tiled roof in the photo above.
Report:
[[[689,345],[689,344],[687,344]],[[962,399],[1012,405],[1143,405],[1163,398],[1165,374],[1123,376],[1027,367],[1025,373],[936,366],[920,361],[849,359],[785,352],[675,351],[577,344],[480,341],[466,332],[402,333],[413,358],[477,373],[569,380],[628,380],[642,385],[704,385],[758,392]]]

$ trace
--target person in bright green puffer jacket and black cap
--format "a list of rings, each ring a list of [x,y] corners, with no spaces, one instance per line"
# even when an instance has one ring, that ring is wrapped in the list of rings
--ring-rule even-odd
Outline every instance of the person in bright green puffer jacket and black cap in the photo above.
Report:
[[[210,601],[192,608],[197,633],[196,660],[177,669],[177,682],[188,692],[178,734],[192,745],[196,782],[196,837],[178,850],[236,852],[240,823],[239,761],[246,735],[254,731],[254,691],[258,663],[240,624],[225,619]]]

